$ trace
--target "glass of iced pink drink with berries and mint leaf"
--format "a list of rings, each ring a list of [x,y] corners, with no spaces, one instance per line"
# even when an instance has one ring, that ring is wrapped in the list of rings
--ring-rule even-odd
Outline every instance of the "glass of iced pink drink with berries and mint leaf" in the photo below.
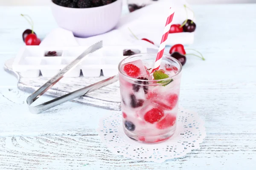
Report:
[[[169,139],[176,129],[182,65],[163,55],[151,74],[157,54],[135,54],[119,63],[125,134],[138,142]]]

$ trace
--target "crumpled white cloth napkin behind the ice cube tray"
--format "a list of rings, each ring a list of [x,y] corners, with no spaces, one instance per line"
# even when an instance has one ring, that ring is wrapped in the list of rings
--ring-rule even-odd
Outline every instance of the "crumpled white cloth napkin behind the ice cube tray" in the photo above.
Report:
[[[186,11],[184,4],[189,6],[185,0],[161,0],[121,17],[119,24],[115,29],[105,34],[100,34],[88,38],[74,37],[71,31],[63,28],[52,30],[47,37],[41,42],[41,46],[90,46],[99,40],[103,40],[103,45],[140,45],[147,48],[157,48],[163,35],[163,28],[169,14],[169,7],[175,9],[173,24],[182,24],[186,20]],[[188,11],[189,19],[193,19],[193,14]],[[195,20],[195,19],[194,19]],[[130,28],[139,39],[147,38],[154,42],[155,45],[144,41],[137,40]],[[192,44],[194,33],[177,33],[169,34],[166,45],[181,43],[183,45]]]

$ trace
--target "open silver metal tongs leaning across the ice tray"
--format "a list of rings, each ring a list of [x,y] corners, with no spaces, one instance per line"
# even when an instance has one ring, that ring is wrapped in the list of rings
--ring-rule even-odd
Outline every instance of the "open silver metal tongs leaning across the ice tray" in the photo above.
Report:
[[[90,53],[93,53],[94,51],[102,48],[102,41],[97,42],[96,44],[90,46],[85,50],[79,57],[77,57],[73,62],[71,62],[69,65],[67,65],[65,68],[63,68],[58,74],[56,74],[54,77],[52,77],[48,82],[46,82],[44,85],[41,86],[37,91],[35,91],[33,94],[31,94],[26,102],[29,106],[29,111],[31,113],[41,113],[43,111],[48,110],[49,108],[55,107],[57,105],[60,105],[61,103],[70,101],[72,99],[75,99],[79,96],[83,96],[85,94],[88,94],[92,91],[95,91],[99,88],[105,87],[107,85],[110,85],[118,80],[118,76],[109,77],[108,79],[102,80],[100,82],[96,82],[92,85],[86,86],[84,88],[81,88],[77,91],[73,91],[69,94],[65,94],[64,96],[60,96],[58,98],[52,99],[48,102],[45,102],[43,104],[37,105],[37,106],[31,106],[35,100],[37,100],[41,95],[43,95],[47,90],[49,90],[53,85],[55,85],[62,77],[64,77],[65,74],[67,74],[69,71],[71,71],[73,68],[75,68],[79,63],[84,59],[85,56],[87,56]]]

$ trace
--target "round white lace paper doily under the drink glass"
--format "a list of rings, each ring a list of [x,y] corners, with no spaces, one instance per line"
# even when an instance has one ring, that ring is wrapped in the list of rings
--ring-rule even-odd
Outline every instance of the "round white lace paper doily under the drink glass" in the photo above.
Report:
[[[178,111],[175,134],[158,144],[143,144],[126,136],[122,127],[122,112],[114,112],[101,119],[97,131],[102,142],[116,155],[158,163],[199,149],[199,144],[206,137],[204,121],[197,113],[183,108]]]

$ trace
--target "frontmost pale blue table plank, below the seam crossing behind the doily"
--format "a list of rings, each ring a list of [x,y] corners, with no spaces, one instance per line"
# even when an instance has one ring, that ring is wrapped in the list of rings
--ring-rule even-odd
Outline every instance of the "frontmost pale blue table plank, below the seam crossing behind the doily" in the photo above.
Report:
[[[256,134],[211,134],[200,145],[201,149],[156,164],[116,156],[101,143],[99,136],[4,137],[0,138],[0,169],[194,170],[205,167],[216,170],[229,167],[241,170],[256,166],[255,141]]]

